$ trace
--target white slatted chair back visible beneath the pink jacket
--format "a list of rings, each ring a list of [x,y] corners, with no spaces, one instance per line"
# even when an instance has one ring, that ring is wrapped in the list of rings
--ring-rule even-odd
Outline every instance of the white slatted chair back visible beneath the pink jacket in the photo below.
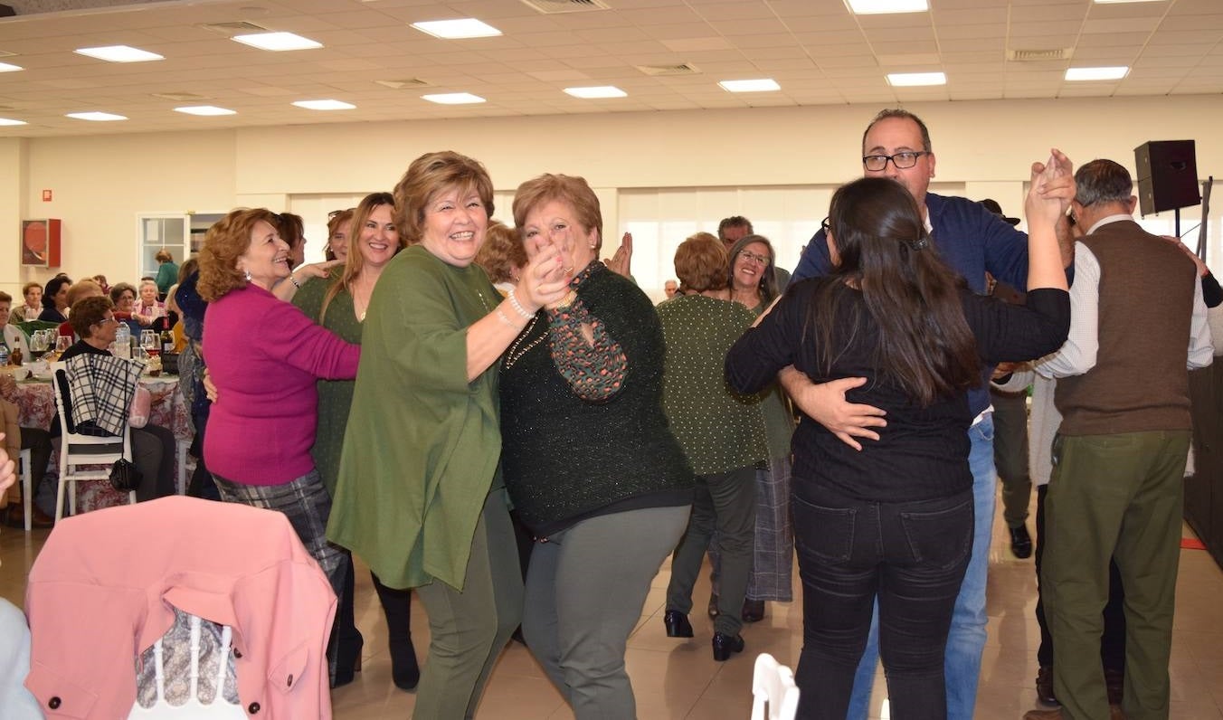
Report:
[[[180,622],[182,619],[186,623]],[[142,671],[137,677],[136,703],[128,719],[245,719],[246,713],[237,698],[232,633],[227,626],[175,608],[174,626],[141,654]],[[207,642],[201,642],[204,638]],[[168,666],[168,658],[177,658],[179,663]],[[201,674],[202,669],[209,667],[212,672]],[[169,696],[168,685],[171,688]],[[226,696],[226,691],[231,697]],[[149,702],[142,704],[146,698]]]

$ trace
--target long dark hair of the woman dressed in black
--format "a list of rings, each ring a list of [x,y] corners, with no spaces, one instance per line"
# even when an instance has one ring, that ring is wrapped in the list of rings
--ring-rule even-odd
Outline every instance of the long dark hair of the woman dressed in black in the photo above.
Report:
[[[848,307],[851,328],[877,335],[872,364],[881,378],[927,406],[938,397],[981,383],[977,342],[964,319],[961,279],[938,257],[909,191],[883,177],[841,186],[828,213],[839,262],[812,298],[808,331],[819,339],[819,362],[828,373],[841,348],[834,320]],[[862,303],[851,303],[860,290]]]

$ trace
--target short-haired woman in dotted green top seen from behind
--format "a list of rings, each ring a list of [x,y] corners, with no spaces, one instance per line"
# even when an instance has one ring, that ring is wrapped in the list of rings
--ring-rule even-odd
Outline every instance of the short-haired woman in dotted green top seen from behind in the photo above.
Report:
[[[685,240],[675,251],[680,295],[658,306],[667,339],[663,407],[696,472],[692,520],[671,560],[663,620],[668,636],[692,637],[692,586],[717,531],[713,658],[719,661],[744,649],[740,612],[755,548],[756,466],[767,457],[759,397],[734,392],[723,377],[726,351],[755,319],[742,304],[720,299],[726,264],[718,240]]]

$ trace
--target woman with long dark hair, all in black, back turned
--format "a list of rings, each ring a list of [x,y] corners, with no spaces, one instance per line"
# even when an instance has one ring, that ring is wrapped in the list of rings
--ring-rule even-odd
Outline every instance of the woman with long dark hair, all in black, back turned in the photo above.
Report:
[[[982,364],[1040,357],[1066,337],[1054,224],[1074,194],[1054,152],[1032,166],[1027,306],[974,295],[936,253],[912,196],[867,177],[833,196],[835,270],[791,285],[726,357],[740,391],[794,366],[887,412],[862,450],[804,417],[793,512],[804,587],[801,718],[844,718],[876,598],[893,713],[945,718],[943,652],[972,545],[969,388]],[[982,361],[986,361],[985,363]]]

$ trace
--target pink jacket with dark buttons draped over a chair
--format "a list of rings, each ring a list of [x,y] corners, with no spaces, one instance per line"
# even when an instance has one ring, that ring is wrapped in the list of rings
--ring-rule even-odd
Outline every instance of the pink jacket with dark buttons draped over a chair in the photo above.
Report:
[[[48,538],[26,589],[26,687],[46,716],[126,718],[171,605],[234,630],[249,716],[331,716],[335,593],[289,520],[181,496],[70,517]]]

